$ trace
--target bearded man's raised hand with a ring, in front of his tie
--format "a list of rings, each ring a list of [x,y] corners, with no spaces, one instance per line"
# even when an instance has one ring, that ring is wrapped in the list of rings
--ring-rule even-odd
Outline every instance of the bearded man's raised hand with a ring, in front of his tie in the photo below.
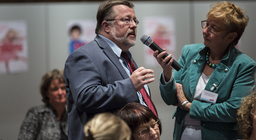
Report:
[[[140,67],[132,73],[130,79],[132,80],[136,92],[140,91],[144,85],[155,81],[155,78],[153,78],[155,75],[153,73],[153,70],[145,69],[144,67]]]

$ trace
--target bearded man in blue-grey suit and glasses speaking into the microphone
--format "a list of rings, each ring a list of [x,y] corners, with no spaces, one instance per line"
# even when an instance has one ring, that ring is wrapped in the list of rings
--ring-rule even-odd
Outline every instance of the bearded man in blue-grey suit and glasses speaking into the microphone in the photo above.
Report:
[[[145,89],[150,96],[147,84],[155,81],[154,71],[138,68],[128,50],[135,45],[139,24],[133,7],[127,0],[101,3],[95,39],[68,56],[64,78],[70,140],[84,138],[83,126],[96,113],[115,112],[129,102],[151,106],[140,91]],[[129,69],[122,52],[136,70]]]

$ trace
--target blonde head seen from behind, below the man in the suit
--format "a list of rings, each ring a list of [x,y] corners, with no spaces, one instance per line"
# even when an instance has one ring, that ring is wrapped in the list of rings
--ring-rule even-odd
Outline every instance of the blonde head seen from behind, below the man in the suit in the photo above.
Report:
[[[84,126],[85,140],[130,140],[131,130],[120,117],[100,113]]]

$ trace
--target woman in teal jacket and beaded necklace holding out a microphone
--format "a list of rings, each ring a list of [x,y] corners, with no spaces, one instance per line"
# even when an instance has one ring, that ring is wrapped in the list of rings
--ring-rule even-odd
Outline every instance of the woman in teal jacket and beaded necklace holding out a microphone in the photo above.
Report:
[[[204,44],[186,45],[172,74],[166,53],[154,57],[163,68],[160,92],[167,105],[178,106],[174,140],[239,139],[236,110],[254,89],[256,63],[235,48],[248,23],[244,10],[229,2],[213,4],[202,21]],[[177,84],[175,84],[177,82]]]

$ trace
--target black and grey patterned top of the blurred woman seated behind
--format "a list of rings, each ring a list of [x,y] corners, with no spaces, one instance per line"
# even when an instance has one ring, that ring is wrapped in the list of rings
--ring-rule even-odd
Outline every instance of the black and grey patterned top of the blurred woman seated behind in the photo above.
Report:
[[[68,139],[67,111],[63,113],[61,122],[57,117],[57,112],[50,104],[30,108],[20,127],[18,140]]]

